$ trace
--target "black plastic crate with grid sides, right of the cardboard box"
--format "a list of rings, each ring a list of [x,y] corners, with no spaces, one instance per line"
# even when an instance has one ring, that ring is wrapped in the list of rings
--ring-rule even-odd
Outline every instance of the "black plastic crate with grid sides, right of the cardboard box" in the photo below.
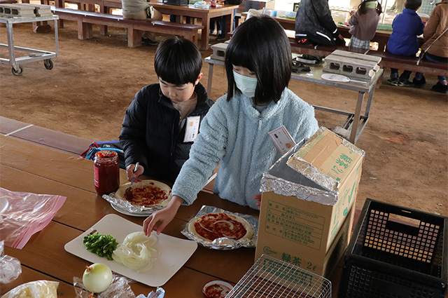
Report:
[[[367,198],[338,298],[444,298],[448,218]]]

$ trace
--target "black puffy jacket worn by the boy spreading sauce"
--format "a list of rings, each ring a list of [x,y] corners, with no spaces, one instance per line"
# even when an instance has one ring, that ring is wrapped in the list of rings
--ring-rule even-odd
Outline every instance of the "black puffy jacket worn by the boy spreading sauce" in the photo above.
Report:
[[[201,116],[201,121],[214,102],[207,97],[201,83],[195,87],[197,104],[188,116]],[[125,151],[126,166],[139,163],[144,175],[174,182],[183,163],[188,159],[193,142],[183,142],[185,125],[179,129],[179,111],[160,89],[160,84],[148,85],[134,96],[126,110],[120,142]]]

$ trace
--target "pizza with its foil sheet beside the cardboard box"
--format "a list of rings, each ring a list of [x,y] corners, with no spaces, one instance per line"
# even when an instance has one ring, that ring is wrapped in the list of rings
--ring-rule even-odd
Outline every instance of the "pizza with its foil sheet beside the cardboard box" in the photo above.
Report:
[[[182,231],[190,240],[216,250],[254,248],[257,232],[257,218],[206,205]]]

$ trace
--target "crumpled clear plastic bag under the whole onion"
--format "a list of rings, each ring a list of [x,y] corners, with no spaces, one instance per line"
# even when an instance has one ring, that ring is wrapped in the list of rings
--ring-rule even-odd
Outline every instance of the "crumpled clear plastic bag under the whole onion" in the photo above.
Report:
[[[103,292],[98,294],[98,298],[135,298],[134,292],[129,285],[134,280],[113,273],[112,283]],[[90,292],[85,289],[82,278],[73,277],[73,287],[76,298],[87,298]]]

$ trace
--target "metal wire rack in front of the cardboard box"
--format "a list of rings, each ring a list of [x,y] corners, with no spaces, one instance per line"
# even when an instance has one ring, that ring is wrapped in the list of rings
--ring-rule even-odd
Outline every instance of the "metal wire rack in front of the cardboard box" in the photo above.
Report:
[[[330,280],[262,255],[225,298],[331,298]]]

